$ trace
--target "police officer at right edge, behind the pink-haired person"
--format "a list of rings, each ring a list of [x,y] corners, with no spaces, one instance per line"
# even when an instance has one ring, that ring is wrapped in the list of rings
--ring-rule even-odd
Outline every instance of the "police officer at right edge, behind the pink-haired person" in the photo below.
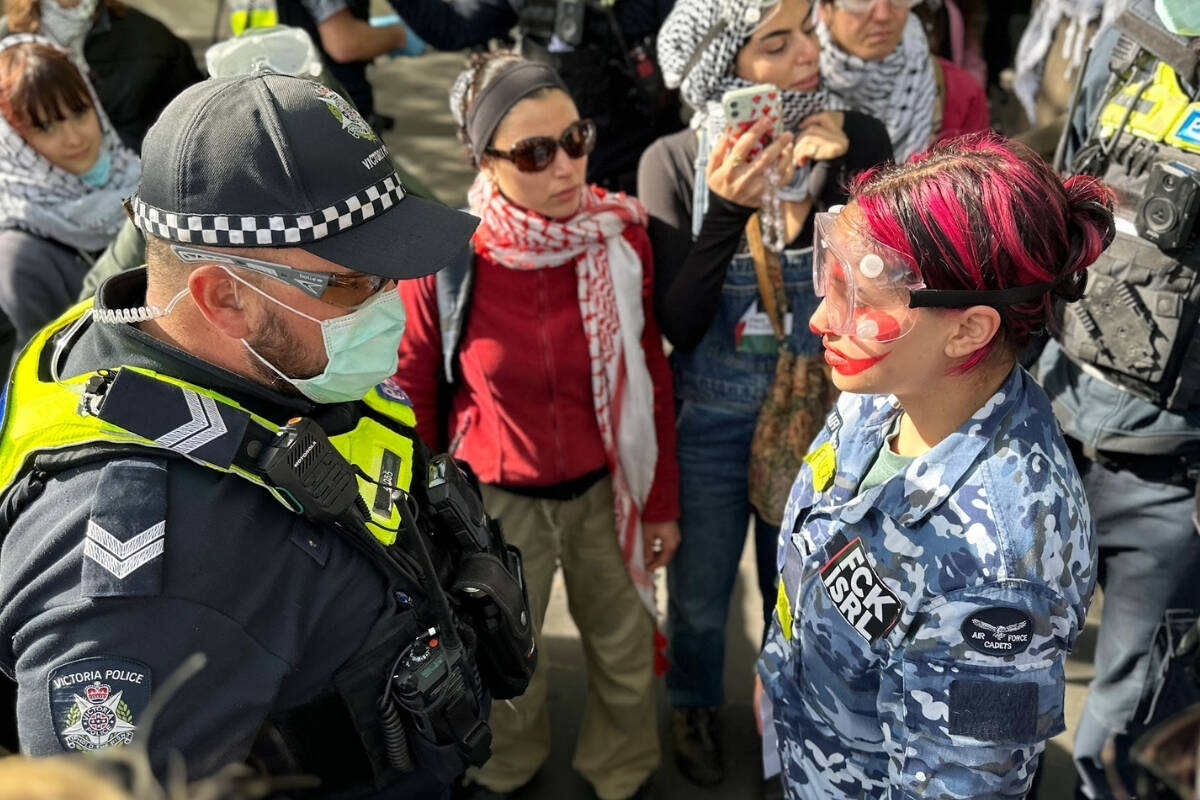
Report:
[[[1090,798],[1112,796],[1105,745],[1133,786],[1130,744],[1192,694],[1170,650],[1200,608],[1198,11],[1136,0],[1100,32],[1057,156],[1117,197],[1117,237],[1038,366],[1079,455],[1100,548],[1096,674],[1074,748]]]

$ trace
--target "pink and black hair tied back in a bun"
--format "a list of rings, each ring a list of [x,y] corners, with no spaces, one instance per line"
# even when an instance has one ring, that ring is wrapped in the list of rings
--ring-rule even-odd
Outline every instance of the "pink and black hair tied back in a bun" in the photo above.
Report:
[[[1012,351],[1055,324],[1054,299],[1079,300],[1086,269],[1112,241],[1112,193],[1096,179],[1061,180],[1037,154],[995,133],[877,167],[851,186],[871,236],[907,258],[930,289],[1008,289],[1052,283],[1036,300],[997,308]]]

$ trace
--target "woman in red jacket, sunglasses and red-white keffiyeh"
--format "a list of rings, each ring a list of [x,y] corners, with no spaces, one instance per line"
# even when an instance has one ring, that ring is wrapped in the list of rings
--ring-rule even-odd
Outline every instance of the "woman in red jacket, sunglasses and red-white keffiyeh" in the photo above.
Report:
[[[647,798],[665,645],[653,572],[679,543],[679,487],[646,209],[587,182],[596,128],[553,70],[510,53],[472,64],[450,104],[479,167],[480,225],[467,264],[401,282],[396,381],[521,549],[539,642],[562,569],[587,656],[574,768],[601,800]],[[469,796],[508,796],[550,754],[539,650],[524,694],[492,704]]]

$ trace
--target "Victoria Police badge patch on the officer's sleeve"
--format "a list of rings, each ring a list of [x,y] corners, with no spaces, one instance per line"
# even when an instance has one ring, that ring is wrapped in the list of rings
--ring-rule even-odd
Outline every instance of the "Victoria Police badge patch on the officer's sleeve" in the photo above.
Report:
[[[150,703],[150,668],[132,658],[80,658],[50,672],[49,694],[62,750],[127,745]]]

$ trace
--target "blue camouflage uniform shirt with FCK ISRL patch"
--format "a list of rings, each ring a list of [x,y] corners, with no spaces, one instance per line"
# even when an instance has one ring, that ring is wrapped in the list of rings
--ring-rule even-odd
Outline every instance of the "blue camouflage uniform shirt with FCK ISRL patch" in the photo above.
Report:
[[[1096,584],[1087,500],[1020,367],[858,494],[900,410],[842,395],[792,487],[758,662],[786,795],[1024,798]]]

